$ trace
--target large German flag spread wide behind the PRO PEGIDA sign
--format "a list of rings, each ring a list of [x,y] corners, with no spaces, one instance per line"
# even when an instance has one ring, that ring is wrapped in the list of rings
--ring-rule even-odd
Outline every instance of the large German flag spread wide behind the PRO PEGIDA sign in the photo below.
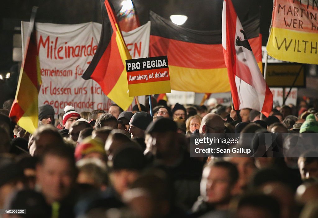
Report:
[[[222,33],[196,31],[173,24],[150,11],[150,57],[168,56],[171,89],[199,93],[230,91]],[[259,18],[243,23],[255,58],[262,67]]]

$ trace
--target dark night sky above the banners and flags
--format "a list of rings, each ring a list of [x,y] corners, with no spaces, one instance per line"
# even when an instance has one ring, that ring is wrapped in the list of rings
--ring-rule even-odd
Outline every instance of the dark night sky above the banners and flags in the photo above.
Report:
[[[111,0],[115,10],[120,9],[121,0]],[[149,19],[149,10],[169,19],[172,14],[188,16],[183,24],[195,30],[221,29],[223,0],[133,0],[141,24]],[[263,45],[266,44],[273,10],[271,0],[232,0],[241,20],[259,15]],[[10,0],[3,1],[0,24],[0,73],[10,70],[12,61],[13,34],[20,33],[20,21],[29,21],[32,6],[38,6],[36,22],[77,24],[101,23],[100,0]]]

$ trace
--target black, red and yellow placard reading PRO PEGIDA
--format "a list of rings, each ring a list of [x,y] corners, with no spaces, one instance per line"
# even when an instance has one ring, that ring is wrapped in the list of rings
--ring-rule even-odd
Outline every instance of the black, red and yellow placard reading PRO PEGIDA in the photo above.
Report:
[[[168,57],[126,60],[129,96],[171,92]]]

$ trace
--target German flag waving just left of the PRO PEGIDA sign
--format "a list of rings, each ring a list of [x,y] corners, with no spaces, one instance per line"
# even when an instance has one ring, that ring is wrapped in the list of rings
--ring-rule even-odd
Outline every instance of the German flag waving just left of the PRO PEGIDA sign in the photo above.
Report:
[[[82,78],[93,79],[105,95],[127,110],[133,97],[128,95],[125,60],[131,59],[114,9],[108,0],[101,0],[102,30],[96,53]]]

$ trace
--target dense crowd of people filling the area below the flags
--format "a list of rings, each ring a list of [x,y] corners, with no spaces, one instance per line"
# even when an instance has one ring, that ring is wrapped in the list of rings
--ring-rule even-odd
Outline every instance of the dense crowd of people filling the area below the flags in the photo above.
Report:
[[[142,104],[81,113],[68,105],[55,119],[41,105],[32,135],[12,123],[11,104],[0,109],[1,218],[318,217],[315,141],[298,140],[301,153],[290,157],[190,157],[194,134],[286,133],[291,147],[295,134],[318,133],[318,101],[268,117],[161,100],[153,116]],[[25,213],[8,214],[17,210]]]

